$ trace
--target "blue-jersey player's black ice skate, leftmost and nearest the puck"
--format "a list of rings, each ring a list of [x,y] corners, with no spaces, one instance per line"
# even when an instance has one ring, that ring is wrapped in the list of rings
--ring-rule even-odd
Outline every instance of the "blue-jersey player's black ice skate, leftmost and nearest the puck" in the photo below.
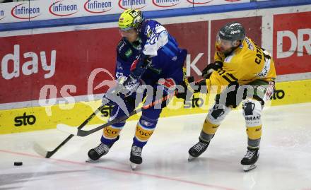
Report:
[[[117,138],[116,138],[116,141],[118,141],[118,140],[119,140],[119,136],[117,136]],[[109,152],[110,148],[113,146],[114,143],[112,143],[111,145],[106,145],[104,143],[100,143],[95,148],[88,150],[88,158],[89,159],[86,160],[86,162],[89,162],[89,163],[98,162],[98,159],[100,159],[100,157],[102,157],[103,155],[106,155]]]

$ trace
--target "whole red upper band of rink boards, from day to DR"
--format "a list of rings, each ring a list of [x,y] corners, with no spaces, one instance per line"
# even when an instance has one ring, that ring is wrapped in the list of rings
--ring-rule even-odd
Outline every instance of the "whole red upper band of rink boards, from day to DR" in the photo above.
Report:
[[[205,13],[158,21],[187,49],[184,67],[195,80],[213,62],[219,28],[238,21],[248,37],[272,53],[278,78],[294,81],[311,78],[311,25],[301,21],[311,17],[310,7]],[[105,93],[107,88],[100,84],[115,79],[119,40],[116,22],[0,32],[0,86],[10,87],[0,92],[0,109],[45,106],[37,104],[42,99],[57,99],[54,105],[58,105],[60,98]]]

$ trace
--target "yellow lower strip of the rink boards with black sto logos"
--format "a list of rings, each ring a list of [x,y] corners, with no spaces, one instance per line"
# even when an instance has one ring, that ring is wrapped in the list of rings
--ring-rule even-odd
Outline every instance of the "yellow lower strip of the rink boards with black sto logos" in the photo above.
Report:
[[[303,102],[311,102],[311,80],[276,83],[276,91],[271,101],[272,106]],[[163,109],[161,117],[206,113],[211,104],[213,104],[213,95],[196,94],[188,102],[174,99],[167,108]],[[78,126],[98,106],[100,106],[100,101],[1,110],[0,134],[54,129],[59,123]],[[111,107],[106,107],[89,124],[102,124],[107,121],[110,110]],[[130,119],[138,118],[139,115],[136,115]]]

